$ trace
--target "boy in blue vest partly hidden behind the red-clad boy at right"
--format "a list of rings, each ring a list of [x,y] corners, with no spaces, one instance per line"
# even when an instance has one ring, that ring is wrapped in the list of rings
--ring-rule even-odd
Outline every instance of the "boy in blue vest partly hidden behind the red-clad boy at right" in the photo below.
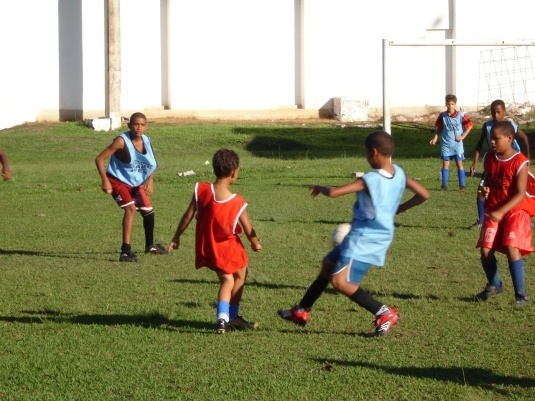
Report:
[[[488,149],[492,149],[491,140],[490,140],[490,130],[492,129],[492,126],[494,125],[494,123],[505,120],[505,114],[506,114],[505,102],[500,99],[494,100],[490,104],[490,114],[492,115],[492,119],[486,121],[483,124],[483,127],[481,128],[481,135],[476,144],[476,150],[474,152],[474,162],[470,166],[471,177],[475,176],[476,169],[477,169],[477,162],[479,161],[479,156],[481,155],[481,149],[483,147],[483,143],[486,141]],[[511,124],[513,124],[513,127],[515,129],[515,137],[513,139],[513,145],[512,145],[513,149],[516,150],[517,152],[522,152],[524,156],[526,156],[526,158],[529,160],[528,137],[521,129],[518,128],[518,125],[516,125],[512,121],[511,121]],[[523,146],[520,146],[517,140],[520,140]],[[470,229],[479,230],[481,229],[483,217],[485,216],[485,195],[480,190],[477,191],[476,205],[477,205],[477,220],[474,224],[470,226]]]

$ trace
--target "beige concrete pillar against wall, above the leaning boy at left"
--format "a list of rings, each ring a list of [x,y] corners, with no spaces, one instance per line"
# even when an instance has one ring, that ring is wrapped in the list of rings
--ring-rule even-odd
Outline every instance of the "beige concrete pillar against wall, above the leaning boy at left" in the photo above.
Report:
[[[111,129],[121,127],[121,25],[120,0],[107,0],[106,117]]]

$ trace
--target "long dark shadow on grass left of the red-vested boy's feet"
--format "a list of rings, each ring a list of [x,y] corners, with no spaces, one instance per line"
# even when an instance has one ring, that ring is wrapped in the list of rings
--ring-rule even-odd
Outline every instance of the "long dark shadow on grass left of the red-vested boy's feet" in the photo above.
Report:
[[[135,326],[147,329],[152,328],[173,331],[188,331],[184,329],[193,329],[195,331],[212,331],[214,328],[214,324],[212,322],[168,319],[159,313],[151,313],[146,315],[78,315],[75,313],[62,313],[54,310],[22,311],[21,313],[29,316],[0,316],[0,321],[28,324],[72,323],[99,326]]]

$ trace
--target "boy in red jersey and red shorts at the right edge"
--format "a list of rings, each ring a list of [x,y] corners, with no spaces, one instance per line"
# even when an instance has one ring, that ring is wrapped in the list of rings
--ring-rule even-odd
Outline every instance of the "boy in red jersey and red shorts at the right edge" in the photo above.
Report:
[[[487,284],[475,299],[486,301],[503,292],[495,256],[498,251],[507,256],[515,305],[525,306],[528,296],[524,286],[523,257],[533,252],[530,215],[534,213],[534,202],[526,196],[529,160],[512,147],[515,128],[511,122],[495,122],[490,135],[493,150],[483,159],[485,218],[476,245],[480,248]]]

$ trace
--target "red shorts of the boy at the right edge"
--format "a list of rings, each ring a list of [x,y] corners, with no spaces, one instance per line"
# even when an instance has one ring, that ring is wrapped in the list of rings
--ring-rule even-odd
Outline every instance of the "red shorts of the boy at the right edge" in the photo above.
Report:
[[[521,209],[507,213],[499,223],[485,218],[476,248],[505,253],[506,247],[513,247],[527,255],[533,252],[531,231],[531,217]]]

